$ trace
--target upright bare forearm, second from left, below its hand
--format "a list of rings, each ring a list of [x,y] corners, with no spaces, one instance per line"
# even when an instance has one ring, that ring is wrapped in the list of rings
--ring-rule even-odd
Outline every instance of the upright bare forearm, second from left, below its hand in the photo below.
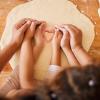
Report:
[[[23,42],[20,53],[20,84],[22,88],[31,89],[33,87],[33,49],[32,41]]]

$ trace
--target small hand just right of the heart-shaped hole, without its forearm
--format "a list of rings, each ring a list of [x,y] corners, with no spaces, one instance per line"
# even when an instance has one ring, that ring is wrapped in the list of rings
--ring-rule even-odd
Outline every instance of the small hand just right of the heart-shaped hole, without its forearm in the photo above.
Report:
[[[52,46],[54,49],[60,48],[62,33],[59,31],[59,29],[55,29],[55,33],[52,40]]]

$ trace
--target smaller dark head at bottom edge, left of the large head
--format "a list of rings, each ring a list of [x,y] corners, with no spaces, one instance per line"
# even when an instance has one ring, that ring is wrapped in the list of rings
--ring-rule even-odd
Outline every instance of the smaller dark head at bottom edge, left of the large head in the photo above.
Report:
[[[45,86],[40,86],[37,90],[21,89],[18,90],[13,100],[51,100],[47,91]]]

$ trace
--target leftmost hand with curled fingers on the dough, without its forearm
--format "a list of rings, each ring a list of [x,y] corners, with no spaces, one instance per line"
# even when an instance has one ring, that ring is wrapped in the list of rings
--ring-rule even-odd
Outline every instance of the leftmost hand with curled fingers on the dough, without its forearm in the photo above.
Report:
[[[29,26],[30,22],[27,22],[27,19],[22,19],[14,25],[11,43],[15,44],[17,48],[21,46],[24,39],[25,31],[28,29]]]

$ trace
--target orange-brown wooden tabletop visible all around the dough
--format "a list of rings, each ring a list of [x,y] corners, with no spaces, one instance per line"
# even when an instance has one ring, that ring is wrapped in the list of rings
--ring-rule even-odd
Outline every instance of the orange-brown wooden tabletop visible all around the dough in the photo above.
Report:
[[[3,33],[4,26],[6,23],[6,17],[9,11],[22,3],[27,2],[28,0],[0,0],[0,37]],[[100,61],[100,18],[98,15],[98,8],[99,8],[99,0],[70,0],[74,4],[77,5],[78,9],[88,16],[91,21],[95,25],[95,39],[91,46],[89,53],[98,61]],[[8,73],[11,72],[11,68],[9,64],[6,66],[5,70],[3,71],[6,74],[0,75],[0,81],[4,80],[4,77],[8,76]]]

